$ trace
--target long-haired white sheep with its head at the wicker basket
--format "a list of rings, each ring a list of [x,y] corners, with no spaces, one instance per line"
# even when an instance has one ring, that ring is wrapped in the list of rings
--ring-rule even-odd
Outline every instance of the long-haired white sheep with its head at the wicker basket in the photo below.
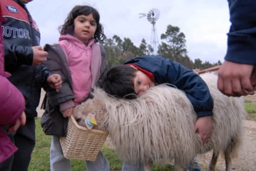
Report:
[[[215,170],[218,155],[224,152],[226,170],[230,170],[231,159],[237,156],[242,142],[244,99],[220,93],[215,74],[206,73],[202,78],[214,100],[213,134],[204,146],[194,132],[197,116],[186,94],[167,85],[154,86],[133,100],[113,98],[95,88],[93,99],[75,107],[74,117],[83,125],[87,114],[95,114],[95,128],[109,133],[122,161],[143,162],[148,168],[152,163],[167,164],[174,159],[179,170],[197,154],[213,149],[208,169]]]

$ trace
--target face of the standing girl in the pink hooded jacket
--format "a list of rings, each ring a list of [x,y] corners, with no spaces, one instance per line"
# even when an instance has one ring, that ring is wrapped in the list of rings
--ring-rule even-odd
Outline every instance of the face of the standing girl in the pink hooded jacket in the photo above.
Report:
[[[74,37],[87,45],[95,34],[96,28],[97,23],[92,14],[78,15],[74,20]]]

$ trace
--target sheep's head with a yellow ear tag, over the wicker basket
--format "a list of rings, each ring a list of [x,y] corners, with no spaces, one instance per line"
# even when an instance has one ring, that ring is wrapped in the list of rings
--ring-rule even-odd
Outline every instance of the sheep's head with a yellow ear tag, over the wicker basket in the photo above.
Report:
[[[87,122],[88,117],[94,115],[97,125],[93,128],[106,131],[106,127],[103,125],[106,117],[105,112],[106,107],[102,99],[93,97],[76,106],[73,115],[77,123],[83,127],[86,127],[85,122]]]

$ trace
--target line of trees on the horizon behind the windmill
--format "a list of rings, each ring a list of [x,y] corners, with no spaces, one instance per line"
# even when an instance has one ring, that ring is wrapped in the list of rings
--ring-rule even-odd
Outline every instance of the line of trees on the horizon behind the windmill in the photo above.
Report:
[[[210,64],[210,62],[195,59],[194,63],[187,56],[186,36],[180,32],[179,27],[168,25],[164,34],[161,34],[161,44],[158,46],[158,54],[163,57],[168,57],[176,62],[185,65],[189,69],[206,69],[213,65],[221,65],[220,60],[217,63]],[[153,47],[147,44],[143,38],[139,48],[137,48],[132,40],[124,38],[122,40],[119,36],[114,35],[113,38],[106,38],[102,42],[106,53],[109,66],[114,64],[122,64],[125,60],[132,57],[147,56],[153,52]]]

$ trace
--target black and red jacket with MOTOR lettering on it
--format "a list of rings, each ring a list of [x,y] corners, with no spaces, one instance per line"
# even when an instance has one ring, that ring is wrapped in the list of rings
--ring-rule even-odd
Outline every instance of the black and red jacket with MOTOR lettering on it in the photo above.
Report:
[[[35,117],[41,86],[50,75],[43,64],[32,66],[31,47],[40,44],[40,32],[22,1],[1,0],[0,5],[2,16],[7,19],[2,23],[5,70],[25,97],[27,117]]]

